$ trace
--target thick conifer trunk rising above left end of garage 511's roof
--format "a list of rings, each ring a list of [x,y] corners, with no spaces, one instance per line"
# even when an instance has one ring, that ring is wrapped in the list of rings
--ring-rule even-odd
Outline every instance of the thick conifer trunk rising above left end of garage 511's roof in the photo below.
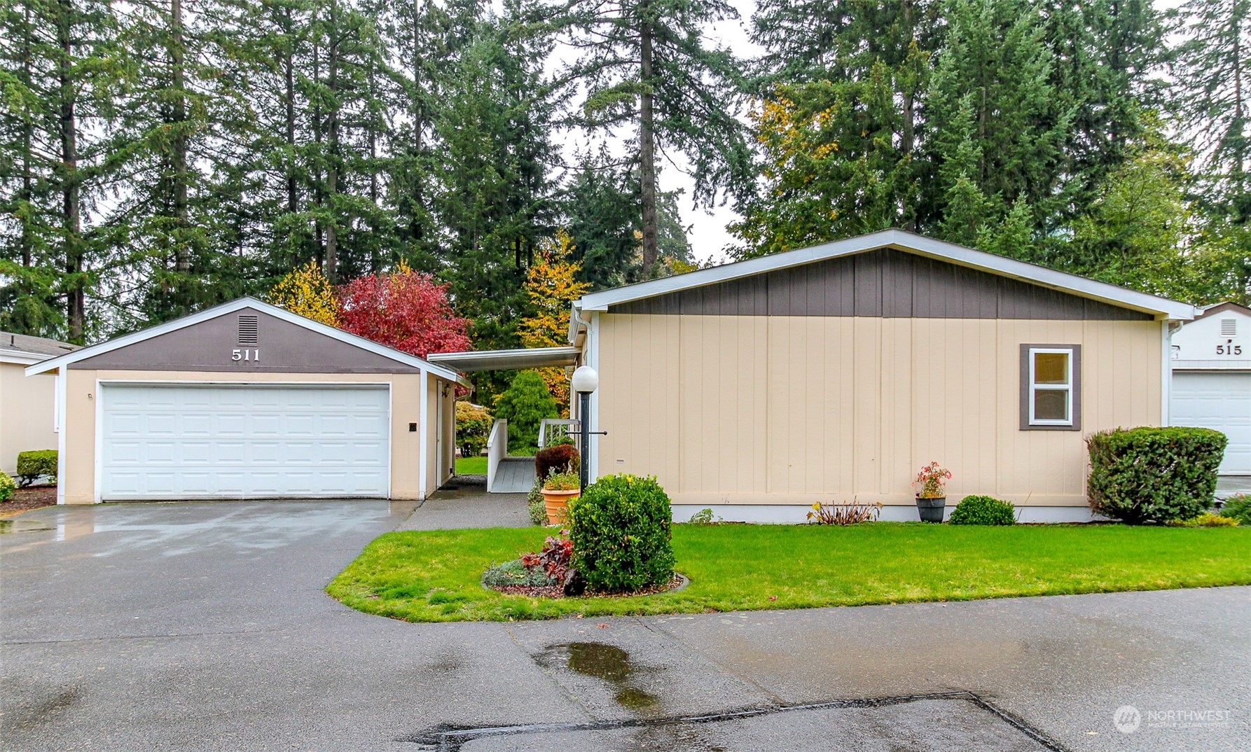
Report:
[[[75,93],[70,60],[74,54],[71,36],[73,0],[58,1],[56,41],[61,50],[58,64],[60,84],[60,135],[61,135],[61,211],[65,236],[65,272],[70,283],[65,292],[65,313],[69,319],[69,340],[83,343],[86,334],[86,285],[83,273],[83,239],[79,174],[78,174],[78,115],[74,111]]]

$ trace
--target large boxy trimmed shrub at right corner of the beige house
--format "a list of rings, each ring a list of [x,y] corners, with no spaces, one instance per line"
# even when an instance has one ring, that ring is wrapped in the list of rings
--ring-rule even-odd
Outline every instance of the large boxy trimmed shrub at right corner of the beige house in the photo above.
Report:
[[[1226,442],[1210,428],[1118,428],[1088,437],[1091,511],[1130,524],[1202,514],[1216,494]]]

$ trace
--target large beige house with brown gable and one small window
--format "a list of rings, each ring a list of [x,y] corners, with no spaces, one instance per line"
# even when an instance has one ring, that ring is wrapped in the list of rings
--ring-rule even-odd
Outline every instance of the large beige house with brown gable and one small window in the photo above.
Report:
[[[592,475],[657,475],[676,519],[798,521],[951,469],[1023,519],[1088,519],[1092,432],[1168,418],[1191,305],[901,230],[594,293]]]

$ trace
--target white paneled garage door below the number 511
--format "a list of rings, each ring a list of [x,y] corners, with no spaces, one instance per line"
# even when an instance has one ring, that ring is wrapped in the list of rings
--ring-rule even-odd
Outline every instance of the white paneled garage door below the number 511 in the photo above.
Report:
[[[389,492],[385,385],[104,384],[100,399],[104,500]]]

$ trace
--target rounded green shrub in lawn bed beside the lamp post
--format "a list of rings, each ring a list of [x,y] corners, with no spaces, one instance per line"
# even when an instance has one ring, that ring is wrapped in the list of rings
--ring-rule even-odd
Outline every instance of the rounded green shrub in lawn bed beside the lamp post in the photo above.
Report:
[[[607,475],[569,502],[573,566],[593,591],[626,593],[673,579],[673,512],[656,478]]]

